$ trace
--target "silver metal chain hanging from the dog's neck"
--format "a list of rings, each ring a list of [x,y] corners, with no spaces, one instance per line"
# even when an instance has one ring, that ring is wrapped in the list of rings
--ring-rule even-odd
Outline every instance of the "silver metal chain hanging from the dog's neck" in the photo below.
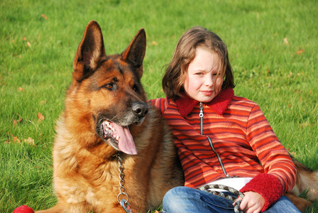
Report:
[[[127,193],[125,192],[124,166],[121,164],[121,157],[120,157],[119,153],[116,154],[116,158],[118,158],[118,163],[119,163],[119,185],[121,186],[119,188],[120,192],[117,195],[117,201],[121,204],[121,207],[123,207],[123,209],[125,210],[126,213],[133,213],[131,211],[131,207],[129,207],[129,203],[128,203],[129,197],[128,197]],[[126,196],[126,200],[124,198],[119,200],[119,197],[121,195]]]

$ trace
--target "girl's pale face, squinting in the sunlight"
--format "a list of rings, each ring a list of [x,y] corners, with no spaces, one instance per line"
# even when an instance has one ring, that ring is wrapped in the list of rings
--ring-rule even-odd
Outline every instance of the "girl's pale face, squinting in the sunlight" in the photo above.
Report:
[[[187,68],[183,87],[189,97],[199,102],[210,102],[221,91],[223,79],[217,75],[220,59],[216,53],[197,48],[195,58]]]

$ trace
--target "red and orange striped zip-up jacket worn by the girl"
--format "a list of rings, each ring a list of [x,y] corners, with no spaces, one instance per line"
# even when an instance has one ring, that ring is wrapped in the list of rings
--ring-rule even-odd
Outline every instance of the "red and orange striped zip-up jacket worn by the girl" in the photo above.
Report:
[[[260,107],[235,96],[233,89],[226,89],[212,102],[203,104],[203,134],[197,101],[185,96],[177,101],[150,102],[170,126],[185,173],[185,186],[197,188],[226,176],[253,178],[241,192],[263,195],[263,212],[295,185],[295,165]]]

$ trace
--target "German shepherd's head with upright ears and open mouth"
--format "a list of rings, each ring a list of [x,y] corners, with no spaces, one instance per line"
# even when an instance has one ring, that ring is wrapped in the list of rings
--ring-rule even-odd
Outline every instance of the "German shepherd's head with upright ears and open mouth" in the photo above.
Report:
[[[106,55],[101,28],[91,21],[73,64],[69,95],[81,108],[82,122],[89,122],[106,143],[128,154],[137,153],[129,126],[141,124],[148,112],[141,86],[145,53],[146,33],[141,28],[123,53]]]

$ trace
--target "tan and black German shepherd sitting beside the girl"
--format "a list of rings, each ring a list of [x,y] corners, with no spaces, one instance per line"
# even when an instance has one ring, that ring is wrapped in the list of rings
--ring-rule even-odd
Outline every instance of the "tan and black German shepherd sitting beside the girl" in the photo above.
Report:
[[[148,106],[141,85],[145,53],[143,29],[123,53],[106,55],[99,24],[88,23],[57,122],[53,183],[58,202],[40,212],[124,212],[121,204],[147,212],[160,205],[165,192],[184,185],[169,128]],[[297,166],[298,190],[290,197],[304,208],[307,200],[295,195],[310,186],[317,198],[318,183],[312,180],[318,177]]]

